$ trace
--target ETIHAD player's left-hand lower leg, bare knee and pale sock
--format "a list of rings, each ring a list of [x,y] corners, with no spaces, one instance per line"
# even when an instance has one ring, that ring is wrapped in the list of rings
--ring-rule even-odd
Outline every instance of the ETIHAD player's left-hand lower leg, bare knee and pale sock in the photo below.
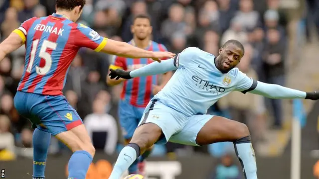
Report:
[[[160,127],[153,123],[138,127],[130,143],[119,154],[109,179],[119,179],[141,154],[159,140],[161,134]]]

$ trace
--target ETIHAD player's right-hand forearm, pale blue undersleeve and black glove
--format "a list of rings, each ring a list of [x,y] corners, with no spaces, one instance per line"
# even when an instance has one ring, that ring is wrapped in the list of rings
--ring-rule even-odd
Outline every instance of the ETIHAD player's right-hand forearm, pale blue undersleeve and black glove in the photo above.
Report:
[[[257,81],[257,86],[255,89],[251,90],[251,93],[263,95],[269,98],[276,98],[276,99],[312,99],[318,100],[319,93],[314,92],[305,92],[297,89],[291,89],[287,87],[283,87],[280,85],[274,84],[266,84],[263,82]]]

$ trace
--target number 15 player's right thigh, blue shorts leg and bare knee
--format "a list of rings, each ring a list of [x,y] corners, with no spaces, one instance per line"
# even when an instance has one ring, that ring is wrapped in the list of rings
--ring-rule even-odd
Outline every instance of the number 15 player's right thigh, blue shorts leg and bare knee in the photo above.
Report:
[[[46,128],[53,136],[73,152],[85,150],[92,156],[95,149],[82,119],[64,96],[46,96],[47,105],[37,105],[32,113],[41,118],[39,126]]]

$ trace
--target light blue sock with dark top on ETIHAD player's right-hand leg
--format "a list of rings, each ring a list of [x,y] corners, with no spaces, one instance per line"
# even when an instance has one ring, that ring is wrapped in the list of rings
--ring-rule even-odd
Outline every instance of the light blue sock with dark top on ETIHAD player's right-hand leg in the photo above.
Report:
[[[235,152],[246,179],[257,179],[257,164],[250,136],[234,142]]]

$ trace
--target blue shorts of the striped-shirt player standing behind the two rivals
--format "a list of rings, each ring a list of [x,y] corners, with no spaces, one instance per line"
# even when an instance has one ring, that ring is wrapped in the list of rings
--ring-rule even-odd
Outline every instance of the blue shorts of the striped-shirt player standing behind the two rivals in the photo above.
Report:
[[[139,122],[135,112],[135,107],[127,101],[121,100],[119,103],[119,120],[124,139],[130,140],[137,128]]]

